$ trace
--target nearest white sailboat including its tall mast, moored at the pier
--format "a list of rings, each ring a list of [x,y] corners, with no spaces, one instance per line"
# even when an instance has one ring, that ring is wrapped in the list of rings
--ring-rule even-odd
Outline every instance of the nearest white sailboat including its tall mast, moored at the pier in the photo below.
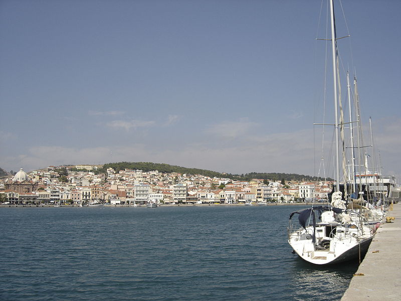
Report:
[[[290,214],[290,224],[288,227],[288,242],[303,260],[318,264],[335,264],[351,259],[359,258],[367,251],[373,239],[376,227],[369,225],[365,219],[363,206],[358,209],[347,208],[343,194],[340,190],[340,160],[339,160],[339,126],[342,127],[344,121],[337,114],[337,107],[341,103],[337,100],[337,45],[334,21],[334,4],[330,2],[331,17],[331,45],[333,59],[333,90],[334,90],[334,117],[335,117],[335,187],[332,194],[330,206],[315,206],[312,208],[296,211]],[[341,108],[341,106],[340,106]],[[342,114],[342,112],[341,112]],[[343,141],[343,133],[341,132]],[[343,154],[344,156],[345,154]],[[344,168],[343,160],[343,168]],[[342,188],[346,188],[345,184]],[[344,191],[346,196],[346,190]],[[357,206],[355,206],[357,207]],[[301,227],[293,223],[292,218],[298,214],[298,221]]]

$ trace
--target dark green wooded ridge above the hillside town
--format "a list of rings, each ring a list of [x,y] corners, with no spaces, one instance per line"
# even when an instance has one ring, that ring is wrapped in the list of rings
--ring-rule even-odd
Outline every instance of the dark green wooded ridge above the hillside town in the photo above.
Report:
[[[102,168],[98,170],[100,173],[105,173],[108,168],[113,168],[116,172],[125,169],[131,170],[142,170],[144,172],[159,171],[161,173],[180,173],[190,175],[203,175],[211,178],[229,178],[232,180],[246,180],[251,179],[263,179],[263,180],[274,180],[274,181],[317,181],[317,177],[298,175],[298,174],[286,174],[286,173],[248,173],[248,174],[225,174],[214,172],[210,170],[186,168],[175,165],[169,165],[164,163],[152,163],[152,162],[117,162],[104,164]],[[331,179],[328,179],[331,180]]]

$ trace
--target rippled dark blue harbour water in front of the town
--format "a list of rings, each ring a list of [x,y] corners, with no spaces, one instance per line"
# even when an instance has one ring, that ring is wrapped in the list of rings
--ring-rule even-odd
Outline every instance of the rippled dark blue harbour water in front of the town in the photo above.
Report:
[[[0,208],[0,299],[339,300],[357,265],[292,254],[298,209]]]

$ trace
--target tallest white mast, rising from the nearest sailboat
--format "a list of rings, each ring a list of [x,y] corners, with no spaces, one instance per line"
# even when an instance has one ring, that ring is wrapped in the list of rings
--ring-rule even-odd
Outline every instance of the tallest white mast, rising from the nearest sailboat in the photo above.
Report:
[[[335,157],[336,157],[336,191],[340,191],[340,160],[338,151],[338,108],[337,108],[337,46],[336,46],[336,34],[335,34],[335,23],[334,23],[334,4],[333,0],[330,0],[330,15],[331,15],[331,51],[333,56],[333,90],[334,90],[334,127],[335,127]]]

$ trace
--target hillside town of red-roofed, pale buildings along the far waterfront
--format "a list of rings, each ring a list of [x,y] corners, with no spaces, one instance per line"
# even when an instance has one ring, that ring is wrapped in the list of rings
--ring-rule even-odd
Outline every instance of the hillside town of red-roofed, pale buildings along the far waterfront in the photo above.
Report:
[[[331,182],[233,181],[180,173],[50,166],[27,174],[21,168],[0,184],[3,205],[269,204],[327,199]]]

